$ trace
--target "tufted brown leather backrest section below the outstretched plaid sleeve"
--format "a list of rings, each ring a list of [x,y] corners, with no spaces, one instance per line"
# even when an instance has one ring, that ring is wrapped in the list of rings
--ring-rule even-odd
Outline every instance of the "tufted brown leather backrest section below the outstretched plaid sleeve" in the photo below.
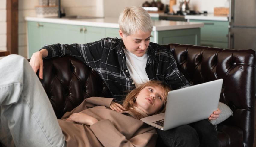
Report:
[[[44,59],[43,62],[43,79],[40,81],[58,119],[86,98],[111,97],[97,72],[76,58],[64,56]]]

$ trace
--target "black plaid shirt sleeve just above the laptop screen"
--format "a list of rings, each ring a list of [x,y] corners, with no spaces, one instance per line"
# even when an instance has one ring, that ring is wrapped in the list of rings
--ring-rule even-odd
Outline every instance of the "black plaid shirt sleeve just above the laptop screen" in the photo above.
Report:
[[[173,90],[191,86],[185,76],[178,69],[177,63],[171,52],[168,52],[167,60],[168,65],[165,70],[165,81],[167,84],[170,85]]]

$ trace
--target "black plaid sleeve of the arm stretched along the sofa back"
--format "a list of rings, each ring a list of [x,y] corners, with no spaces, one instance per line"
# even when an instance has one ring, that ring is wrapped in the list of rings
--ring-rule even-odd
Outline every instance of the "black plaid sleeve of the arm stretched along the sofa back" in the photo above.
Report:
[[[99,66],[104,49],[104,39],[86,44],[46,45],[40,50],[42,49],[47,49],[48,51],[48,56],[46,57],[46,59],[70,55],[82,61],[91,68],[97,68]]]

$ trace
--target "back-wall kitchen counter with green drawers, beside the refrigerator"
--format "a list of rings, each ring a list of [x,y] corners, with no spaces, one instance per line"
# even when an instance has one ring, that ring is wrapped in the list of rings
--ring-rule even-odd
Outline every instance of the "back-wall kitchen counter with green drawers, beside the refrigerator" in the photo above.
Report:
[[[149,13],[151,19],[164,19],[173,21],[202,22],[201,46],[228,48],[229,21],[227,15],[170,15],[162,13]]]

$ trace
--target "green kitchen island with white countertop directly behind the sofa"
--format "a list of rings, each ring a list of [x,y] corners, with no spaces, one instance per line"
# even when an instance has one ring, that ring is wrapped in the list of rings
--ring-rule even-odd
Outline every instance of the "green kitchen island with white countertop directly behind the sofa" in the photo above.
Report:
[[[28,57],[45,44],[89,43],[119,36],[118,18],[67,19],[26,17]],[[150,41],[200,45],[200,22],[153,20]]]

